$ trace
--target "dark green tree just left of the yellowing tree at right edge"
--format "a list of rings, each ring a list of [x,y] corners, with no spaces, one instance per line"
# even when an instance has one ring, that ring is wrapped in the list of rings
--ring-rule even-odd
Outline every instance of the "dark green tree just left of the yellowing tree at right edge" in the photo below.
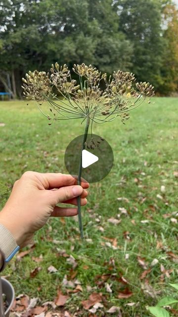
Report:
[[[162,3],[159,0],[116,0],[119,30],[134,47],[133,68],[136,77],[158,87],[161,77],[163,39]]]

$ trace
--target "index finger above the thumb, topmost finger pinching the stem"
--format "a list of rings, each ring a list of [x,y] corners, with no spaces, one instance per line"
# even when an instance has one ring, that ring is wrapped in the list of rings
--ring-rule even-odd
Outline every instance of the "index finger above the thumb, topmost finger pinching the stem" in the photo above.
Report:
[[[45,189],[58,188],[61,186],[77,185],[77,176],[61,173],[41,173],[43,176],[43,185]],[[81,186],[83,188],[89,188],[89,183],[82,178]]]

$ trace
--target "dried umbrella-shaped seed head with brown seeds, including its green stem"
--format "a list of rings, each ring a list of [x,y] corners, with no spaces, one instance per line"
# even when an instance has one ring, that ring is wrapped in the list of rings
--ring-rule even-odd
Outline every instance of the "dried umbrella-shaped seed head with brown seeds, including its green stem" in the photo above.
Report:
[[[84,139],[79,162],[78,184],[81,184],[82,151],[87,146],[93,148],[99,143],[90,140],[86,144],[89,125],[93,122],[103,124],[117,117],[125,124],[131,110],[143,103],[146,97],[154,96],[154,87],[146,82],[135,83],[133,73],[118,70],[107,79],[98,69],[74,64],[73,71],[79,77],[79,84],[71,78],[67,65],[52,64],[50,73],[29,71],[23,80],[24,95],[27,100],[34,100],[39,110],[50,121],[82,119],[85,121]],[[102,83],[102,85],[101,85]],[[100,87],[104,87],[101,89]],[[59,98],[60,96],[60,98]],[[62,97],[62,98],[61,98]],[[50,114],[43,111],[43,102],[49,105]],[[100,142],[102,140],[99,140]],[[78,214],[81,236],[83,226],[81,218],[81,202],[78,197]]]

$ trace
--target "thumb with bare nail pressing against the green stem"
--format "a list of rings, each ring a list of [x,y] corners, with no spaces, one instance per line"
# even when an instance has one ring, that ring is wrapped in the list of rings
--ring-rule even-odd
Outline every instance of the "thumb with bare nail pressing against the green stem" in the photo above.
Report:
[[[69,199],[78,197],[82,195],[83,188],[80,185],[74,185],[74,186],[65,186],[61,187],[59,189],[50,191],[52,193],[53,202],[55,205],[65,202]]]

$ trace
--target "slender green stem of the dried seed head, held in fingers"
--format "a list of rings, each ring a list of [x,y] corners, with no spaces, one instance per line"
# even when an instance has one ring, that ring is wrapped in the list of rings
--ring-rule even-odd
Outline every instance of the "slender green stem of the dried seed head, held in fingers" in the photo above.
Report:
[[[83,141],[82,141],[82,148],[81,148],[81,155],[80,155],[80,162],[79,162],[79,173],[78,173],[78,181],[77,181],[78,185],[81,185],[82,151],[85,150],[85,143],[87,141],[88,131],[89,131],[89,117],[87,117],[85,131],[84,131],[84,138],[83,138]],[[84,239],[84,231],[83,231],[82,215],[81,215],[81,197],[80,196],[77,197],[77,207],[78,207],[79,227],[80,227],[81,238]]]

